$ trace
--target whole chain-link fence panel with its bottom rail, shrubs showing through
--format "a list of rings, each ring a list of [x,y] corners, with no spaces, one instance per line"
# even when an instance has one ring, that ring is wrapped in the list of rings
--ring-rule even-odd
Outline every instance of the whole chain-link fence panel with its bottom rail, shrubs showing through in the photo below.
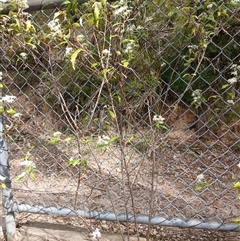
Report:
[[[8,16],[9,211],[239,231],[237,1]]]

